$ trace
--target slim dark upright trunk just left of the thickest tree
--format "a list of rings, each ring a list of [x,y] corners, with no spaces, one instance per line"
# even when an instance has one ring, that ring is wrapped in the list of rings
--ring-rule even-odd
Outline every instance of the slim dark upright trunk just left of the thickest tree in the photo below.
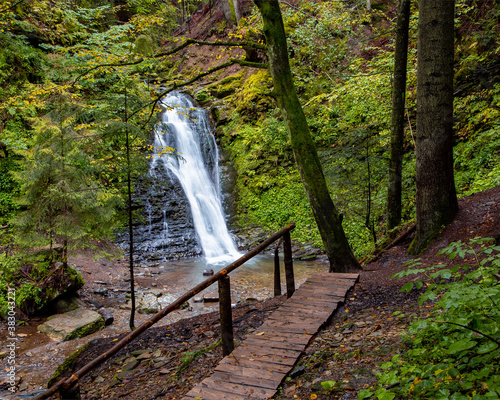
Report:
[[[388,229],[395,228],[401,222],[401,181],[410,3],[410,0],[399,1],[398,21],[396,24],[394,78],[392,81],[391,154],[389,159],[389,182],[387,190]]]

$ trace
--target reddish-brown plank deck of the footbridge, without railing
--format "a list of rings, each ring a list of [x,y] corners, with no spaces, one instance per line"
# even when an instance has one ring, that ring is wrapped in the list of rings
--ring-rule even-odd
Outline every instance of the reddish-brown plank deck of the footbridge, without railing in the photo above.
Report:
[[[318,273],[191,389],[183,400],[269,399],[358,274]]]

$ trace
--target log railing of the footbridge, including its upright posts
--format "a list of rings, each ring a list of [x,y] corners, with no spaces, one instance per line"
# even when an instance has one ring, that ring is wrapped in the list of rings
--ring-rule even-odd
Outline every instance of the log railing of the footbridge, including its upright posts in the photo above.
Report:
[[[292,243],[290,239],[290,231],[295,228],[295,224],[292,223],[286,228],[283,228],[279,232],[275,233],[259,246],[253,250],[246,253],[244,256],[240,257],[238,260],[229,264],[226,268],[220,270],[216,274],[212,275],[210,278],[201,282],[193,289],[184,293],[181,297],[170,303],[166,308],[161,310],[159,313],[155,314],[151,319],[144,322],[142,325],[138,326],[135,330],[130,332],[124,338],[122,338],[118,343],[116,343],[111,349],[102,353],[100,356],[96,357],[94,360],[88,364],[81,367],[78,371],[74,372],[69,378],[63,378],[57,383],[55,383],[51,388],[43,393],[40,393],[34,398],[34,400],[47,399],[50,396],[59,393],[60,399],[80,399],[80,388],[79,380],[88,372],[92,371],[94,368],[102,364],[104,361],[109,359],[112,355],[116,354],[120,349],[122,349],[126,344],[130,343],[141,333],[149,329],[155,323],[160,321],[163,317],[176,310],[181,304],[185,303],[192,297],[196,296],[202,290],[205,290],[215,282],[219,283],[219,309],[220,309],[220,319],[221,319],[221,337],[222,337],[222,351],[224,355],[228,355],[234,349],[233,340],[233,328],[232,328],[232,311],[231,311],[231,290],[230,281],[228,274],[234,271],[236,268],[240,267],[248,260],[252,259],[269,245],[276,242],[278,239],[283,238],[283,259],[285,264],[285,278],[287,287],[287,297],[292,296],[295,291],[295,281],[293,275],[293,262],[292,262]],[[280,242],[281,243],[281,242]],[[280,244],[279,243],[279,244]],[[280,280],[280,268],[279,268],[279,256],[278,256],[278,246],[276,246],[274,253],[274,295],[278,296],[281,294],[281,280]]]

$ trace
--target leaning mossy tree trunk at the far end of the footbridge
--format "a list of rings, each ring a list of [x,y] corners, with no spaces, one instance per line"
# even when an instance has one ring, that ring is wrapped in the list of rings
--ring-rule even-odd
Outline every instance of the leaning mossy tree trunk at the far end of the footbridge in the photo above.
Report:
[[[349,247],[342,228],[342,219],[330,197],[318,153],[295,91],[279,3],[268,0],[254,0],[254,2],[264,21],[274,92],[285,120],[302,183],[330,261],[330,272],[359,270],[361,267]]]

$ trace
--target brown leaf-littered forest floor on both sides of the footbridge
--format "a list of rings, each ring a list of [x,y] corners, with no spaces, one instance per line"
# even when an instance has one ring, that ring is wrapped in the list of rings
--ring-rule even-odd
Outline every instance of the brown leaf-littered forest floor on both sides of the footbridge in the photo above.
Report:
[[[463,198],[455,221],[421,255],[424,266],[449,263],[438,251],[449,243],[500,232],[500,187]],[[390,277],[410,260],[405,242],[369,262],[346,303],[313,338],[276,400],[355,399],[376,382],[381,363],[404,351],[403,334],[411,321],[426,316],[432,305],[418,306],[416,291],[400,293],[405,281]],[[284,301],[283,296],[241,303],[234,309],[237,344]],[[83,399],[180,399],[209,376],[222,359],[217,313],[152,328],[81,381]],[[106,351],[116,337],[97,339],[75,369]],[[129,369],[130,364],[137,364]],[[330,392],[321,382],[335,381]],[[315,397],[316,396],[316,397]]]

